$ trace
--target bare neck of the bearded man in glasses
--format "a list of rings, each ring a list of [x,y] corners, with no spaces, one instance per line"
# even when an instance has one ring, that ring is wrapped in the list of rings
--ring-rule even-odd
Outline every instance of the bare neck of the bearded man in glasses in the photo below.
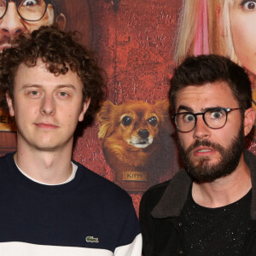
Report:
[[[251,174],[243,154],[236,170],[212,183],[193,183],[192,196],[202,207],[224,207],[238,201],[252,188]]]

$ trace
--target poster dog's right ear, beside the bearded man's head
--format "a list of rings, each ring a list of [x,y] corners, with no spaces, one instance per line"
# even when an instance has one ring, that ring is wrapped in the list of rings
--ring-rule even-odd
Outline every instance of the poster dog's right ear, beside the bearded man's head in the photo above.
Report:
[[[160,125],[162,128],[170,132],[172,131],[172,125],[170,122],[170,103],[168,100],[160,100],[154,104],[155,112],[160,116]]]

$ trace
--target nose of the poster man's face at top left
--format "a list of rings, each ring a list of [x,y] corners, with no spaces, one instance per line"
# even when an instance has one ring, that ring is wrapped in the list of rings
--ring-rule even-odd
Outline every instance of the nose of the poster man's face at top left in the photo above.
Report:
[[[22,19],[18,14],[15,3],[9,2],[6,14],[0,20],[0,31],[3,36],[15,38],[20,33],[25,32],[26,27],[23,25]]]

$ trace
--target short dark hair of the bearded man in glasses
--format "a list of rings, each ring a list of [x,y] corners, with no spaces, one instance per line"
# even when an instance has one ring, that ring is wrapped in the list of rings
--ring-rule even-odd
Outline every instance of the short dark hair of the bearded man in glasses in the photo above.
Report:
[[[186,58],[175,68],[169,91],[172,113],[175,112],[178,91],[189,85],[226,82],[239,104],[245,110],[252,107],[251,81],[245,70],[221,55],[199,55]]]

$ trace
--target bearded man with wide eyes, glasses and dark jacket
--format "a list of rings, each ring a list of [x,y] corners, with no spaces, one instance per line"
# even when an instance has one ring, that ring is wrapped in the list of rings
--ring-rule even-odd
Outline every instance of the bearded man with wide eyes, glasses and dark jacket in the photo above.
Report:
[[[143,195],[144,256],[256,255],[247,73],[223,56],[189,57],[175,69],[169,99],[184,168]]]

